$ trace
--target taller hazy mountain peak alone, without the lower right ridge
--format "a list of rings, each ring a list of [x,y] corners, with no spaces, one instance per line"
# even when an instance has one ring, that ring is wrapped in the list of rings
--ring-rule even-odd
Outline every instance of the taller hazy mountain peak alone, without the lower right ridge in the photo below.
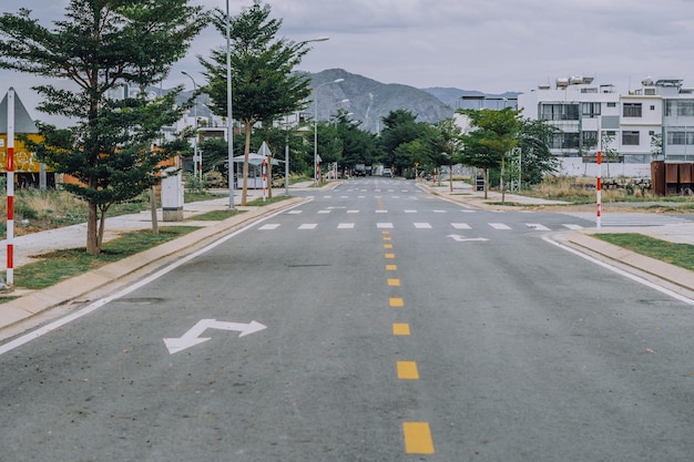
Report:
[[[378,133],[382,129],[381,119],[400,109],[410,111],[420,122],[436,123],[453,115],[451,106],[414,86],[380,83],[343,69],[326,70],[310,78],[314,90],[312,100],[317,102],[320,121],[329,120],[343,109],[351,113],[353,120],[361,122],[361,130]],[[331,83],[338,79],[344,81]],[[313,117],[316,106],[312,103],[307,111]]]

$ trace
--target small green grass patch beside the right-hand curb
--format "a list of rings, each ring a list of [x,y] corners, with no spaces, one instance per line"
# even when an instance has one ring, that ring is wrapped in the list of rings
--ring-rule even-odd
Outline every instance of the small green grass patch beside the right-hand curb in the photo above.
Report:
[[[694,245],[655,239],[639,233],[599,233],[593,236],[646,257],[694,270]]]

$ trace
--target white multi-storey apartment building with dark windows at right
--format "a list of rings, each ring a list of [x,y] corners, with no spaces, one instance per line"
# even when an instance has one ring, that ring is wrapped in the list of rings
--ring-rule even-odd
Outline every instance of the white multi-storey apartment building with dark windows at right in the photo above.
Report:
[[[621,94],[592,78],[557,79],[554,88],[520,94],[518,106],[523,117],[560,130],[551,148],[563,174],[595,175],[598,148],[618,154],[603,157],[611,176],[647,177],[654,160],[694,162],[694,91],[681,80],[646,79],[639,90]]]

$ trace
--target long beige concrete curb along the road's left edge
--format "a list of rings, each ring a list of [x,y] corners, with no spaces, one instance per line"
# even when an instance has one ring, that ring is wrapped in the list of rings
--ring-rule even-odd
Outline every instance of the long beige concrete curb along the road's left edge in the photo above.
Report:
[[[0,329],[11,327],[40,312],[70,304],[80,297],[119,281],[135,271],[150,271],[164,266],[172,257],[202,248],[226,234],[278,211],[307,202],[302,197],[282,201],[238,214],[223,222],[194,230],[143,253],[105,265],[93,271],[63,280],[42,290],[32,291],[0,305]]]

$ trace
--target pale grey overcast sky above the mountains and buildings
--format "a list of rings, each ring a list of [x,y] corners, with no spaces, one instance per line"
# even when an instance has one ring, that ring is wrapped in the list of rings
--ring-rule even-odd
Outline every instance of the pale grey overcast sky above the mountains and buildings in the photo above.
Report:
[[[19,2],[2,11],[17,12]],[[22,0],[43,25],[63,18],[68,0]],[[225,0],[192,0],[226,8]],[[300,65],[341,68],[384,83],[451,86],[487,93],[530,91],[559,76],[589,75],[626,92],[645,76],[684,79],[694,86],[694,0],[283,0],[268,1],[280,34],[313,44]],[[229,0],[233,16],[252,0]],[[206,30],[164,86],[202,84],[196,54],[225,39]],[[25,75],[0,71],[0,92],[13,85],[28,106]],[[31,109],[30,109],[31,112]],[[39,116],[39,114],[33,114]],[[39,117],[40,119],[40,117]]]

